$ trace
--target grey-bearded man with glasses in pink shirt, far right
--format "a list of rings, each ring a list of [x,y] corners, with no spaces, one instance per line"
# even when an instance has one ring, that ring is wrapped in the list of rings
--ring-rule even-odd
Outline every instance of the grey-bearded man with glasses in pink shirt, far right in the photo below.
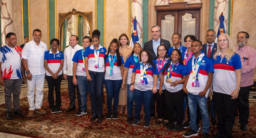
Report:
[[[237,97],[239,110],[239,123],[242,131],[247,131],[249,118],[249,92],[254,84],[254,68],[256,67],[256,50],[247,46],[249,34],[241,31],[237,34],[237,53],[242,63],[242,78],[239,94]]]

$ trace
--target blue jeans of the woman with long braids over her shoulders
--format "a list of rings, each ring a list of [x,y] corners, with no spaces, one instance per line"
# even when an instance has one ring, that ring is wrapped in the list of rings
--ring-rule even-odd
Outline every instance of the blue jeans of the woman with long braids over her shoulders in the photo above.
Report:
[[[105,80],[105,87],[107,91],[107,111],[111,113],[112,100],[114,98],[113,113],[117,112],[119,102],[119,92],[123,80]]]

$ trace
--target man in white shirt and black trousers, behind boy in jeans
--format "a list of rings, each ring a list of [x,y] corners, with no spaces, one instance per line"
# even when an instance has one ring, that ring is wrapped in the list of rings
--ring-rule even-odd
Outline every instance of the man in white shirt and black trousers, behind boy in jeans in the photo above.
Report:
[[[67,47],[64,51],[64,65],[63,65],[63,74],[64,78],[68,80],[68,89],[69,89],[69,109],[66,112],[71,112],[76,110],[76,94],[78,101],[78,111],[81,109],[81,95],[78,89],[78,86],[73,84],[73,61],[72,58],[75,55],[76,51],[83,49],[82,46],[78,45],[78,37],[76,35],[71,35],[69,38],[70,46]]]

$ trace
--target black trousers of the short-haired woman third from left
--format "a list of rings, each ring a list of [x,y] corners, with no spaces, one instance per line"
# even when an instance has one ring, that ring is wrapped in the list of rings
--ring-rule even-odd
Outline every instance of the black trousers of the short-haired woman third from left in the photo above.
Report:
[[[49,102],[49,106],[51,109],[59,109],[60,106],[62,105],[62,100],[60,98],[60,85],[62,83],[62,74],[59,75],[59,77],[57,79],[52,78],[52,76],[47,76],[45,75],[45,78],[47,80],[48,83],[48,102]],[[56,95],[56,101],[55,101],[55,105],[54,105],[54,97],[53,97],[53,93],[54,93],[54,89],[55,89],[55,95]]]

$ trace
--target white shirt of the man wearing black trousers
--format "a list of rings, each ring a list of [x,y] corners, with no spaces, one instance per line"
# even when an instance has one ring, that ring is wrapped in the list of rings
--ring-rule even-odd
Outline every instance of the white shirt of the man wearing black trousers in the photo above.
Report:
[[[74,48],[71,46],[65,48],[64,51],[64,64],[63,64],[63,74],[73,76],[73,61],[72,58],[75,55],[76,51],[83,49],[83,46],[76,44]]]

